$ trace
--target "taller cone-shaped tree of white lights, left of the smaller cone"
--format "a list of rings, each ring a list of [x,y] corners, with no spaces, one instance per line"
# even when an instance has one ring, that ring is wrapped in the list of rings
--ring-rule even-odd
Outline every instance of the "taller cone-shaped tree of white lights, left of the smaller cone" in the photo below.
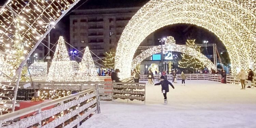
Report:
[[[61,36],[58,40],[51,67],[47,76],[47,81],[71,82],[77,81],[76,75],[79,64],[70,61],[65,41]]]

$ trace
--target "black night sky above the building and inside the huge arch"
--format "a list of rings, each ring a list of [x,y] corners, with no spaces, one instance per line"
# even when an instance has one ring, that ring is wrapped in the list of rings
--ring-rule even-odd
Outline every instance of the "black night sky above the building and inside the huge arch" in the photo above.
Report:
[[[2,6],[7,0],[0,0]],[[125,8],[125,7],[141,7],[149,0],[81,0],[74,9],[103,9],[103,8]],[[72,11],[71,10],[71,11]],[[60,35],[63,35],[65,40],[69,42],[69,16],[72,12],[63,17],[60,22],[51,31],[51,42],[55,43]],[[207,29],[190,25],[190,24],[176,24],[163,27],[155,32],[155,45],[159,45],[157,39],[173,36],[177,44],[185,44],[188,38],[196,39],[196,43],[202,44],[204,40],[209,43],[216,43],[218,51],[226,51],[223,43],[216,37],[216,35]],[[209,51],[209,54],[212,54]]]

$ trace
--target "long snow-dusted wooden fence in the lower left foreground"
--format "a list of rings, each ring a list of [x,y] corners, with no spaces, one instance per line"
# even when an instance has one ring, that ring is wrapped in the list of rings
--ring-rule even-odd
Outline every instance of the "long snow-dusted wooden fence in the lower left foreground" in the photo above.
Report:
[[[100,113],[98,92],[95,89],[87,89],[2,115],[0,127],[73,128],[79,127],[96,112]]]

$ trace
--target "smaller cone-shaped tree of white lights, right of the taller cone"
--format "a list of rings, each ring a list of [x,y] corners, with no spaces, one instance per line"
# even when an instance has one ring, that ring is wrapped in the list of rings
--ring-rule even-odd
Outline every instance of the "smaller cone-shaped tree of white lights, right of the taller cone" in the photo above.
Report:
[[[79,65],[80,69],[77,75],[79,81],[99,81],[98,72],[88,47],[85,48],[82,62]]]

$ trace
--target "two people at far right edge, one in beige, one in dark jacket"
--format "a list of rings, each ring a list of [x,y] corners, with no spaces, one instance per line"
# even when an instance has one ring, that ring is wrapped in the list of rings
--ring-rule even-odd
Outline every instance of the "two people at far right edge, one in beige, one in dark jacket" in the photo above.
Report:
[[[248,88],[251,88],[254,73],[253,73],[252,69],[249,69],[248,72],[249,72],[249,73],[248,73],[248,77],[247,77],[247,80],[248,80]],[[242,88],[241,88],[241,89],[245,89],[246,72],[245,72],[244,69],[241,69],[241,71],[240,71],[239,74],[238,74],[238,77],[239,77],[240,82],[241,82],[241,85],[242,85]],[[254,86],[254,85],[253,85],[253,86]]]

